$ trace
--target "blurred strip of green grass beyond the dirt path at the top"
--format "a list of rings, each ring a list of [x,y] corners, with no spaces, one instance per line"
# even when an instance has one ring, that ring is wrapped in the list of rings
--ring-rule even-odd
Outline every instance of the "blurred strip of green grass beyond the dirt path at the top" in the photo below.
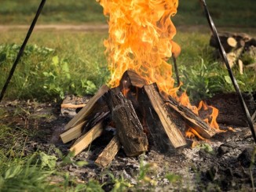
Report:
[[[30,24],[40,0],[2,0],[0,6],[0,24]],[[210,13],[217,26],[256,27],[254,0],[207,1]],[[101,5],[95,0],[46,1],[38,23],[40,24],[85,24],[106,23]],[[174,24],[207,24],[199,0],[179,1]]]

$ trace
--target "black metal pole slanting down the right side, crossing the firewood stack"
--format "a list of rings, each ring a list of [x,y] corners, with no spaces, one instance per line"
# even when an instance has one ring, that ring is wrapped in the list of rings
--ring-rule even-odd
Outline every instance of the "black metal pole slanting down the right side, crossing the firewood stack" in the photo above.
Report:
[[[218,31],[217,31],[217,29],[216,29],[216,27],[214,25],[214,21],[212,20],[212,18],[210,16],[209,10],[207,8],[207,3],[205,2],[205,0],[201,0],[201,2],[203,2],[204,11],[206,13],[208,23],[210,25],[210,30],[214,34],[214,38],[216,39],[216,42],[218,43],[218,49],[219,49],[219,51],[221,53],[222,59],[225,62],[225,66],[227,67],[227,69],[229,71],[229,77],[231,78],[232,84],[234,85],[234,88],[236,89],[236,93],[237,93],[237,95],[239,97],[241,107],[243,109],[244,114],[247,117],[247,123],[249,125],[249,128],[251,129],[251,133],[252,133],[252,136],[254,138],[254,142],[256,143],[256,135],[255,135],[256,128],[254,127],[253,122],[251,121],[251,115],[249,113],[249,110],[247,109],[246,103],[243,100],[243,96],[242,96],[242,93],[240,92],[240,87],[239,87],[239,85],[236,82],[236,78],[232,74],[232,70],[231,70],[230,65],[229,65],[229,60],[227,58],[225,50],[223,49],[223,46],[221,45],[221,40],[220,40],[220,38],[218,36]]]

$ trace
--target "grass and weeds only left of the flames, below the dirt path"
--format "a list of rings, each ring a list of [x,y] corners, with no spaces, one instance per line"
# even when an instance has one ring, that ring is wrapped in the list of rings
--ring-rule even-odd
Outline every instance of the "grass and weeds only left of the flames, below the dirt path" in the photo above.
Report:
[[[25,34],[1,35],[0,70],[5,74],[0,77],[2,87]],[[108,78],[104,38],[106,34],[67,31],[33,34],[6,97],[53,100],[63,97],[66,92],[92,94]]]

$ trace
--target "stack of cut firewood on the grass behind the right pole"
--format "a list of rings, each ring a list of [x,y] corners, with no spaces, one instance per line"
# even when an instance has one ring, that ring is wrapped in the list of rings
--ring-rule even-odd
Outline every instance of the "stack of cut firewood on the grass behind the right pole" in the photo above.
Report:
[[[230,67],[237,64],[240,74],[243,74],[245,65],[256,71],[256,38],[245,33],[230,32],[221,32],[219,37],[227,53]],[[210,46],[216,48],[216,53],[218,53],[218,44],[213,35],[210,37]]]

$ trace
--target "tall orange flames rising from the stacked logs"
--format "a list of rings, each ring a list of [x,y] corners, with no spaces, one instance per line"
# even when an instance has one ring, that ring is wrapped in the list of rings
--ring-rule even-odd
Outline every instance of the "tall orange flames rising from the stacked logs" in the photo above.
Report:
[[[218,110],[200,103],[192,106],[186,92],[177,96],[172,78],[172,66],[166,61],[170,56],[177,57],[181,48],[173,41],[176,28],[170,20],[177,13],[178,0],[101,0],[104,15],[108,16],[109,37],[104,41],[108,53],[108,67],[111,71],[112,87],[119,85],[119,80],[127,70],[133,70],[143,77],[148,84],[156,82],[159,89],[173,96],[195,114],[199,110],[211,109],[205,119],[211,128],[218,127]],[[129,90],[123,90],[126,93]],[[199,136],[195,129],[187,129],[188,137]]]

